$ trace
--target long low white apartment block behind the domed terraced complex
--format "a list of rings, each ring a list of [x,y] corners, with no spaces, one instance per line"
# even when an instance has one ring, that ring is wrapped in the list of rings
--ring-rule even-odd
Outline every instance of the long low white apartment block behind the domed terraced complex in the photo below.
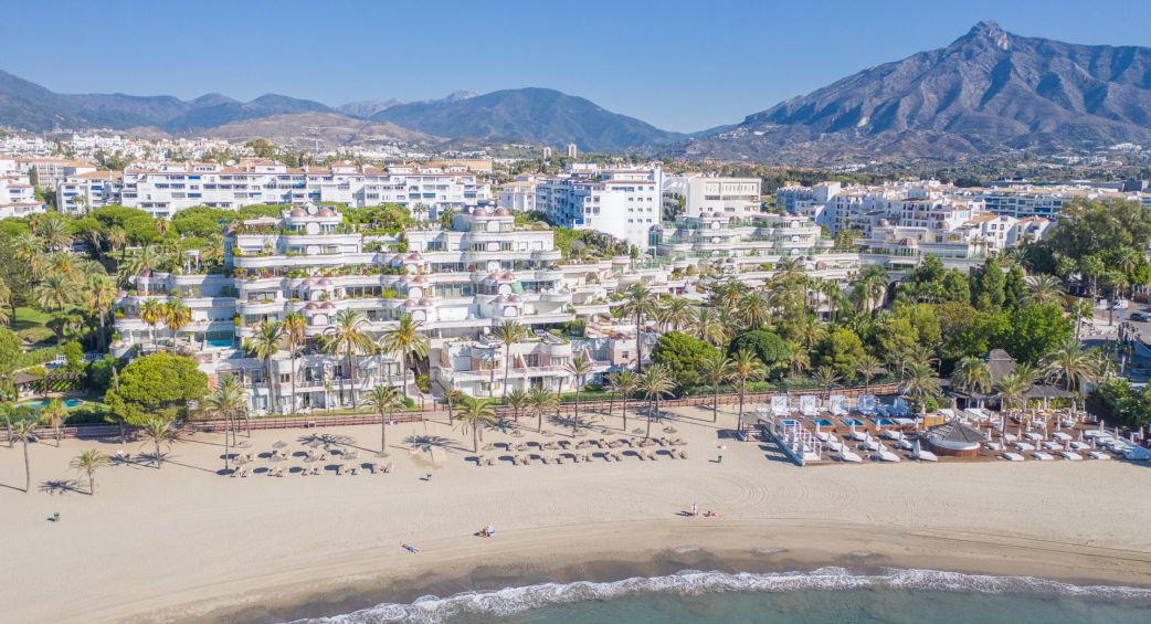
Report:
[[[490,199],[490,189],[465,167],[355,165],[289,168],[245,159],[234,167],[213,162],[143,163],[124,170],[125,206],[170,218],[192,206],[238,208],[256,204],[399,204],[417,219],[435,219]]]

